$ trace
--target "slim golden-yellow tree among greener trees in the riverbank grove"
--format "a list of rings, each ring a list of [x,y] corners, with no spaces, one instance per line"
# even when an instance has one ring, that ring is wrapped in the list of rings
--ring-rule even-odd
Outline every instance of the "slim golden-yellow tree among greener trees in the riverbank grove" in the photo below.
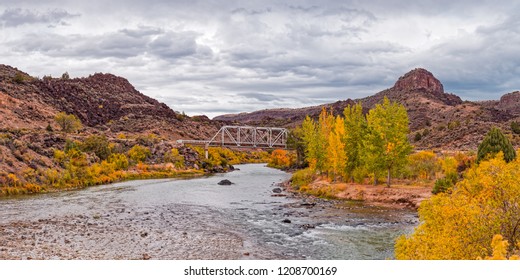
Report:
[[[337,116],[328,135],[327,167],[332,178],[345,177],[347,154],[345,153],[345,123]]]

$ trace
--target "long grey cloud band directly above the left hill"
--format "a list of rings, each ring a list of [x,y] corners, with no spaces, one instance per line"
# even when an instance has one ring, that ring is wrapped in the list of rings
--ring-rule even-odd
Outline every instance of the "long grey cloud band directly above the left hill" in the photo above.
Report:
[[[53,57],[130,58],[145,54],[170,60],[199,53],[211,55],[211,49],[196,43],[194,32],[171,32],[140,26],[101,35],[58,35],[30,33],[13,41],[13,49],[37,52]]]

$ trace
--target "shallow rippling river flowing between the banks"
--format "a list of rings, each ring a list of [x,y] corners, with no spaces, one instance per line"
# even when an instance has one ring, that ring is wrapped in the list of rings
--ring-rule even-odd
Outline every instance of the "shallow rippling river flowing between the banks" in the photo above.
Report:
[[[273,196],[289,174],[237,168],[1,199],[0,258],[390,259],[417,224],[408,210]]]

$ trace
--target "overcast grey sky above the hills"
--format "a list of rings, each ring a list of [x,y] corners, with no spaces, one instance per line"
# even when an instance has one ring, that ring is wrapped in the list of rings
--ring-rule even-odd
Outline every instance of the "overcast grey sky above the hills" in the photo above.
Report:
[[[447,92],[520,89],[520,1],[0,0],[0,64],[127,78],[188,115],[303,107],[423,67]]]

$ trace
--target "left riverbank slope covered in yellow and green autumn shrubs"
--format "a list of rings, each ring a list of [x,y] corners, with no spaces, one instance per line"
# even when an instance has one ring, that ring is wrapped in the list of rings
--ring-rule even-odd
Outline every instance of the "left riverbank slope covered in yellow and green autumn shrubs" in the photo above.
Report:
[[[77,122],[73,115],[62,116]],[[179,146],[155,134],[129,138],[120,133],[109,139],[75,133],[66,125],[59,132],[0,133],[0,150],[3,154],[12,151],[15,157],[3,158],[13,171],[0,172],[0,195],[69,190],[130,179],[200,176],[231,171],[233,164],[266,162],[269,157],[264,151],[210,148],[205,159],[202,148]]]

